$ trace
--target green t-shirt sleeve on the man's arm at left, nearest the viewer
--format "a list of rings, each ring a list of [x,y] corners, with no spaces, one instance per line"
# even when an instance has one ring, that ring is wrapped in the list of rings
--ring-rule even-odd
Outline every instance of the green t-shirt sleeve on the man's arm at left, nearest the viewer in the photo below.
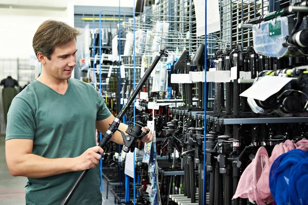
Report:
[[[22,98],[15,97],[7,116],[6,140],[34,139],[34,112]]]

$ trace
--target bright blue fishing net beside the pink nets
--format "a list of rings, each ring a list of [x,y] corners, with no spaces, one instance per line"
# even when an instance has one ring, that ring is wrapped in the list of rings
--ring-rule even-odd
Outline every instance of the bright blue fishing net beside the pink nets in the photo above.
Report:
[[[308,205],[308,152],[280,155],[271,167],[269,188],[277,205]]]

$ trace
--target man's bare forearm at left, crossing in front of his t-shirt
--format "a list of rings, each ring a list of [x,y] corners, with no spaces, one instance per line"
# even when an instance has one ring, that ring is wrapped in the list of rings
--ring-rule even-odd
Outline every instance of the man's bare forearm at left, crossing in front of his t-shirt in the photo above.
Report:
[[[13,176],[42,178],[72,172],[75,170],[74,158],[50,159],[34,154],[26,154],[18,159],[10,170]]]

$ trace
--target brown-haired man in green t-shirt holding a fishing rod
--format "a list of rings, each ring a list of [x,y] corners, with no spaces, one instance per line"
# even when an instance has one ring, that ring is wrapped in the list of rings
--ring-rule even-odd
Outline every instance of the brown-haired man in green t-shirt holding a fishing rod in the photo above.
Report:
[[[95,126],[105,133],[114,116],[91,85],[70,78],[77,35],[78,30],[54,20],[38,27],[32,45],[42,73],[14,98],[8,112],[6,160],[13,176],[28,177],[26,204],[60,204],[86,169],[69,204],[102,204],[97,152],[104,151],[95,146]],[[120,132],[111,140],[124,144]],[[143,141],[151,140],[150,132]]]

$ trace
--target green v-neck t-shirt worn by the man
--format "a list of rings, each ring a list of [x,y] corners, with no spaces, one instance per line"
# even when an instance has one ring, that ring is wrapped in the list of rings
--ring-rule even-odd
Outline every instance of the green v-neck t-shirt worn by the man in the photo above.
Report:
[[[34,80],[13,99],[6,140],[33,139],[33,154],[76,157],[96,146],[95,122],[111,115],[104,98],[89,84],[68,80],[64,95]],[[61,204],[81,172],[28,178],[26,204]],[[100,166],[91,169],[69,204],[102,204]]]

